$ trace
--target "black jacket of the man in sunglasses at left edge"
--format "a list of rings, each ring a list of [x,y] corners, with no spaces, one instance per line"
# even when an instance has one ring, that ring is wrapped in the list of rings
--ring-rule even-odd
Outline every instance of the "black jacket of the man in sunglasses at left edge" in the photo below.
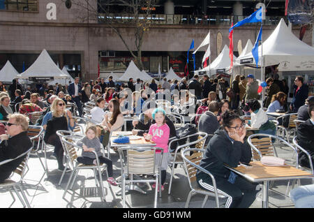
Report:
[[[0,162],[10,158],[16,158],[31,148],[31,140],[27,132],[19,133],[8,140],[3,140],[0,143]],[[9,163],[0,165],[0,179],[10,177],[10,174],[22,163],[24,157],[10,161]]]

